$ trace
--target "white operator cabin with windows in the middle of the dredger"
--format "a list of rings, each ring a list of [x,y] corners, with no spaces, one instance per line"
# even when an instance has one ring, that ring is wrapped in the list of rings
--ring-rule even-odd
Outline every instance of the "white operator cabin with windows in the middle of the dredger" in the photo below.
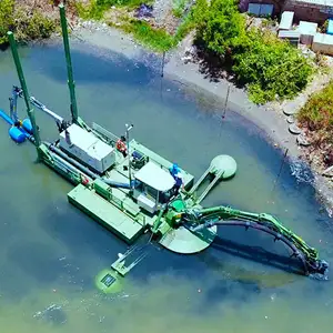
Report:
[[[175,181],[173,176],[153,162],[148,162],[135,174],[138,185],[133,196],[139,206],[155,213],[161,204],[167,203],[173,194]]]

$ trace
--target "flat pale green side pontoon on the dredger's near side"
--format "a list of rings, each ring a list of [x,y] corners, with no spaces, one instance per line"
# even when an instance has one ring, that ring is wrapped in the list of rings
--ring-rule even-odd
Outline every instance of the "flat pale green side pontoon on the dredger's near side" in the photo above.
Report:
[[[144,230],[144,225],[81,184],[68,193],[68,200],[129,244]]]

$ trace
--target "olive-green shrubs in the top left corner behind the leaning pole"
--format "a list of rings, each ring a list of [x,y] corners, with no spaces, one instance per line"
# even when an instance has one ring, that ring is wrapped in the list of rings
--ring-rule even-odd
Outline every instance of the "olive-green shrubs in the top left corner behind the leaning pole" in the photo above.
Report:
[[[0,2],[0,46],[7,46],[7,31],[13,31],[18,41],[49,38],[56,30],[56,23],[46,18],[40,11],[27,10],[16,7],[14,0]]]

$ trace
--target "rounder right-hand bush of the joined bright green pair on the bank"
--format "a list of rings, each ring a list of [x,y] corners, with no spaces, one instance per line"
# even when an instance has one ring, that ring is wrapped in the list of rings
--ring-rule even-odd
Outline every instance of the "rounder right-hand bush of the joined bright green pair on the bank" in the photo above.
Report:
[[[234,51],[232,70],[256,103],[295,97],[313,72],[297,49],[268,31],[249,31]]]

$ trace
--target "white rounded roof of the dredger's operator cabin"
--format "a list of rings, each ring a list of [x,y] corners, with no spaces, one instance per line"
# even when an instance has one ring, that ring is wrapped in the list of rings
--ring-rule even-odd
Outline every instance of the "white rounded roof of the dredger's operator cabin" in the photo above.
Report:
[[[148,162],[137,173],[135,179],[158,191],[165,192],[173,188],[173,176],[153,162]]]

